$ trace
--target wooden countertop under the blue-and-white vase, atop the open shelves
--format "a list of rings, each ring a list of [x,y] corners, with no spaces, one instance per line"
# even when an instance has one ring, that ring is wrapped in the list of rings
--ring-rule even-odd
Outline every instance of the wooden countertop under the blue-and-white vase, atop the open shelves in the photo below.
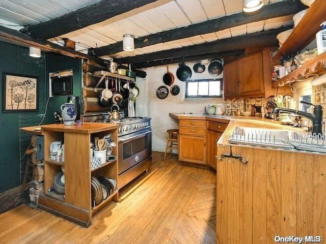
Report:
[[[58,131],[58,132],[71,132],[79,134],[91,134],[101,132],[104,130],[111,130],[119,128],[118,124],[110,123],[93,123],[82,122],[80,124],[73,124],[71,126],[65,126],[64,124],[51,124],[41,126],[42,131]]]

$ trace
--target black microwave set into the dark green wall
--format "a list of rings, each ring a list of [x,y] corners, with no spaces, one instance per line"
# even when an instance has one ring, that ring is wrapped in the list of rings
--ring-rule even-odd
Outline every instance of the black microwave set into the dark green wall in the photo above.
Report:
[[[72,95],[72,76],[56,76],[51,78],[51,95]]]

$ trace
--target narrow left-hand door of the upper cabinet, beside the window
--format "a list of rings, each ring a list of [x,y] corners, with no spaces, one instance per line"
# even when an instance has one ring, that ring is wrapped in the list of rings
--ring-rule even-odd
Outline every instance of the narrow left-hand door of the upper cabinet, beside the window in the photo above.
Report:
[[[232,62],[223,68],[223,90],[225,98],[234,98],[238,95],[238,63]]]

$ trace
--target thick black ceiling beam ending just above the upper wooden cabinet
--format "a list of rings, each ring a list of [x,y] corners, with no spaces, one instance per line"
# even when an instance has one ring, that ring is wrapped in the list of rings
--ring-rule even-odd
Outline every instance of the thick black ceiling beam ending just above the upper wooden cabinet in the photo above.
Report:
[[[187,57],[189,56],[189,54],[192,53],[200,55],[207,53],[246,49],[250,47],[273,47],[278,46],[279,44],[278,40],[276,39],[277,34],[284,32],[287,29],[290,29],[291,27],[293,26],[271,29],[265,32],[257,32],[182,48],[169,49],[131,57],[115,58],[114,60],[115,62],[118,62],[120,64],[135,64],[136,66],[140,63],[148,63],[147,67],[151,67],[152,62],[156,62],[161,59]]]

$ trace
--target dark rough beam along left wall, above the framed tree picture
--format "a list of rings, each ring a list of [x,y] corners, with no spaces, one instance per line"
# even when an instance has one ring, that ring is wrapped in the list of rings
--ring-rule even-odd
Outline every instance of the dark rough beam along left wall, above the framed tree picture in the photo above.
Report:
[[[84,54],[66,47],[62,47],[55,43],[36,40],[35,38],[30,37],[29,35],[25,35],[23,33],[15,31],[14,29],[6,28],[1,25],[0,25],[0,38],[4,39],[5,41],[7,40],[8,42],[18,43],[23,46],[34,46],[43,50],[60,53],[70,57],[90,59],[99,64],[103,64],[105,61],[104,59],[99,58],[97,56]]]

